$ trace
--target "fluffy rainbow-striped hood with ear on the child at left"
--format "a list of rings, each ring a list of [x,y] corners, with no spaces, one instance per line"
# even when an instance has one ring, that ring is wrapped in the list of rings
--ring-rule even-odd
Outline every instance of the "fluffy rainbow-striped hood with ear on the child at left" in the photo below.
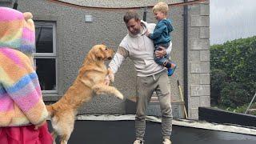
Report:
[[[31,57],[35,48],[35,30],[17,10],[0,7],[0,48],[9,47]],[[4,26],[6,25],[6,26]]]

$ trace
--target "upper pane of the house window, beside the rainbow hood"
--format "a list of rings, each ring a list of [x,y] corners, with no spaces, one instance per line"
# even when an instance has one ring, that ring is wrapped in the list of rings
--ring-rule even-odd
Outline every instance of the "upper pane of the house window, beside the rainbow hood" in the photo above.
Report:
[[[36,53],[53,53],[53,26],[36,23],[35,34]]]

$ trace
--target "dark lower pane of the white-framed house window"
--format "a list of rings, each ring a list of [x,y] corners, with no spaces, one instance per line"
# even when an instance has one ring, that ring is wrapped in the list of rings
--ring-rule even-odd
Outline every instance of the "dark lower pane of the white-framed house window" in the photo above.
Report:
[[[41,90],[56,90],[54,58],[36,58],[37,74]]]

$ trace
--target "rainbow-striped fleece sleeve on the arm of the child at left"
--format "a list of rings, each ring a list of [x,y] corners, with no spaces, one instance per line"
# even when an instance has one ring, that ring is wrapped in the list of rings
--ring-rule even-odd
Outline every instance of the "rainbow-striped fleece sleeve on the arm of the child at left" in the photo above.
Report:
[[[3,70],[0,73],[0,84],[6,94],[14,101],[19,110],[26,115],[26,118],[34,125],[46,120],[48,112],[42,101],[42,92],[38,82],[38,75],[35,73],[30,59],[25,54],[17,54],[20,58],[18,64],[6,60]],[[7,58],[8,59],[8,58]]]

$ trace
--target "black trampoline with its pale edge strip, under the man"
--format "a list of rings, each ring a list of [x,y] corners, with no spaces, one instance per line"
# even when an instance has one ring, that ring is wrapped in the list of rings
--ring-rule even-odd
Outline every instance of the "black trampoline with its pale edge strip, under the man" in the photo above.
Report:
[[[68,143],[132,144],[134,137],[134,115],[80,115]],[[171,139],[173,144],[255,144],[256,129],[177,119]],[[162,144],[161,119],[146,118],[145,144]]]

